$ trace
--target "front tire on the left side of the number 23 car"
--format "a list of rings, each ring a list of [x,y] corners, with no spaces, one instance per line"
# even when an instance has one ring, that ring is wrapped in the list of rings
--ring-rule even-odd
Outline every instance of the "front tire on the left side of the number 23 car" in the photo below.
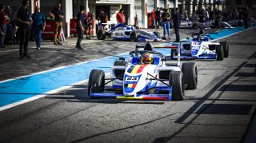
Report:
[[[103,70],[92,70],[88,82],[88,96],[90,93],[103,93],[105,88],[105,73]]]

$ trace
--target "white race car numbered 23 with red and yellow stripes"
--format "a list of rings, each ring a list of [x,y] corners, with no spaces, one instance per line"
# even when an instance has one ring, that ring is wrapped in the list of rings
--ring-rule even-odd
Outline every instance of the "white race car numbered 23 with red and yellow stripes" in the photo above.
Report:
[[[141,47],[144,50],[138,50]],[[180,101],[184,89],[196,89],[198,70],[194,62],[183,63],[181,69],[179,60],[166,64],[166,58],[155,51],[151,43],[141,47],[130,52],[129,62],[124,59],[114,62],[110,78],[106,78],[102,70],[92,70],[89,97]],[[106,88],[110,82],[112,86]]]

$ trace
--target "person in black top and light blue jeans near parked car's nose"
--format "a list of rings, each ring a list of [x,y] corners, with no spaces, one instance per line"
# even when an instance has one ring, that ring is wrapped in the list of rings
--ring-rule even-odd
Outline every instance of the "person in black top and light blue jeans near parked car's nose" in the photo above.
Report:
[[[163,26],[163,37],[166,37],[166,30],[168,34],[168,38],[170,40],[170,14],[167,9],[164,9],[162,15],[162,26]]]

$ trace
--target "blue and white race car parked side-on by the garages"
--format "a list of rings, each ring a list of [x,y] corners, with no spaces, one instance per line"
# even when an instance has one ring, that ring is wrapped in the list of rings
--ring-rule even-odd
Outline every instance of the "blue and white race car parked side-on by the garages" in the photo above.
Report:
[[[101,26],[99,26],[101,27]],[[135,26],[124,25],[122,23],[114,26],[106,24],[105,29],[99,28],[97,32],[98,40],[113,38],[114,40],[127,40],[132,42],[162,42],[159,32],[147,30],[137,30]]]

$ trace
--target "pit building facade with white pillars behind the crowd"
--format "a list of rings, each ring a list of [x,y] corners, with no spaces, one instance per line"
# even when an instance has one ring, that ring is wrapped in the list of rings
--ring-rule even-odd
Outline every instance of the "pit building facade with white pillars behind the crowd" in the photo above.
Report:
[[[64,11],[63,30],[66,36],[70,36],[70,19],[75,18],[78,14],[79,6],[86,6],[86,12],[94,13],[94,22],[97,23],[97,17],[100,9],[104,9],[108,14],[110,23],[117,23],[116,14],[121,8],[125,10],[126,22],[130,25],[134,24],[134,18],[137,15],[138,26],[148,28],[150,13],[154,8],[162,7],[170,9],[172,12],[176,7],[180,10],[188,10],[192,14],[193,10],[198,8],[218,7],[222,9],[222,3],[225,0],[30,0],[30,10],[33,13],[35,6],[40,6],[42,13],[49,16],[50,10],[57,6],[58,2],[62,2],[62,10]],[[17,10],[22,0],[10,1],[1,0],[7,6]],[[94,26],[94,29],[96,26]],[[96,31],[96,30],[94,30]]]

